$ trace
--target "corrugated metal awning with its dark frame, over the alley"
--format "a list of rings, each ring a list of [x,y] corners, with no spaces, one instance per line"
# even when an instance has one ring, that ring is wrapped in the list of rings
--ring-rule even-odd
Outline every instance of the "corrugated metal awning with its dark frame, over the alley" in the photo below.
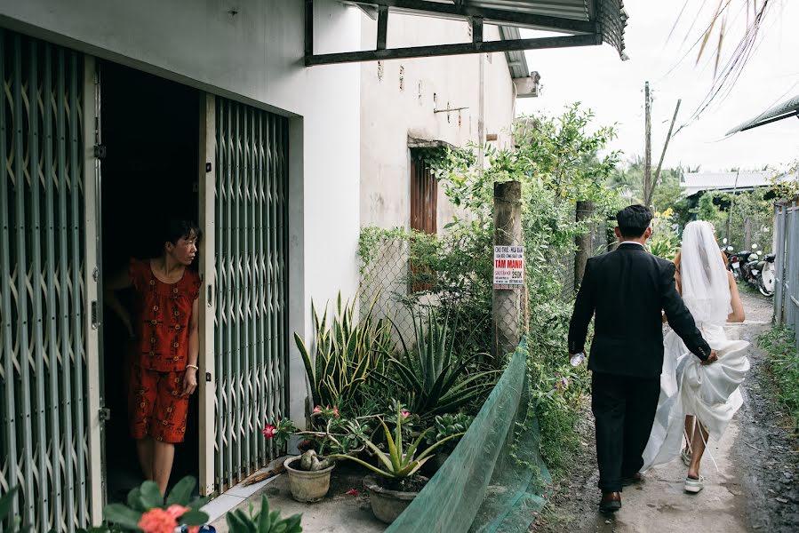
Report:
[[[364,11],[376,13],[378,28],[375,49],[315,54],[314,2],[305,0],[305,63],[308,67],[481,52],[521,52],[603,43],[611,44],[622,60],[627,59],[624,52],[627,12],[624,11],[622,0],[348,0],[348,4],[356,4]],[[472,42],[387,48],[390,12],[468,20],[472,25]],[[565,35],[483,41],[483,24],[531,28]]]

